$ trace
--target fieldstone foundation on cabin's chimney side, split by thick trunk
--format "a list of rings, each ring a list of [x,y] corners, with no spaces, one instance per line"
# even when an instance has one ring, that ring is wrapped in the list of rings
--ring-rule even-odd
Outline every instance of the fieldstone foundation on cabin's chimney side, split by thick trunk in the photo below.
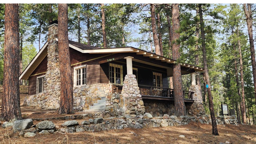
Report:
[[[97,103],[101,97],[112,95],[112,84],[97,83],[92,85],[84,85],[73,87],[74,93],[74,109],[85,110],[89,109],[93,103]],[[57,109],[59,108],[60,95],[47,95],[47,93],[40,93],[36,95],[26,96],[24,105]]]

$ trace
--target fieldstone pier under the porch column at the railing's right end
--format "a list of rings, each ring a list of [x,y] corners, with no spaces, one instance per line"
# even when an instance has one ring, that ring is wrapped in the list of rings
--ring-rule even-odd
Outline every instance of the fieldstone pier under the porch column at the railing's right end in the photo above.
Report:
[[[188,109],[188,115],[190,116],[201,116],[205,115],[205,109],[203,105],[203,98],[198,85],[191,85],[189,91],[194,92],[193,99],[194,103]]]

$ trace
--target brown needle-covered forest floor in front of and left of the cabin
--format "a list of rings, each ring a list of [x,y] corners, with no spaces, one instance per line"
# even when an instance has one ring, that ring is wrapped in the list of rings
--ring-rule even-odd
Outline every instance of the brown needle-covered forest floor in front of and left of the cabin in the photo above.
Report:
[[[24,118],[46,118],[58,117],[56,110],[49,111],[40,108],[24,106],[24,97],[27,94],[20,94],[21,111]],[[0,103],[2,104],[2,88],[0,87]],[[2,107],[0,104],[0,107]],[[1,108],[0,108],[1,109]],[[78,113],[78,112],[76,112]],[[61,115],[63,116],[63,115]],[[55,124],[60,125],[63,120],[52,120]],[[34,121],[34,124],[39,121]],[[122,130],[108,130],[100,132],[77,132],[74,134],[50,134],[36,135],[33,138],[21,138],[18,134],[13,134],[12,129],[0,127],[0,144],[164,144],[164,143],[225,143],[229,141],[232,144],[255,144],[256,143],[256,126],[230,124],[218,125],[219,136],[211,134],[211,125],[190,123],[183,126],[157,127]],[[133,133],[136,135],[134,135]],[[184,135],[185,138],[179,137]]]

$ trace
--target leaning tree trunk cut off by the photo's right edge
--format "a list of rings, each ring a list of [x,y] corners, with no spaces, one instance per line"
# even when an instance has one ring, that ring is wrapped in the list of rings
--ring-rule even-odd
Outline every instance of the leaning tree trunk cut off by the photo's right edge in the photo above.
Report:
[[[248,10],[246,8],[246,4],[243,4],[244,13],[246,15],[249,41],[250,41],[254,97],[255,97],[255,104],[256,104],[256,61],[255,61],[255,50],[254,50],[254,43],[253,43],[254,39],[253,39],[253,32],[252,32],[252,11],[251,11],[251,4],[247,4],[247,6],[248,6]]]

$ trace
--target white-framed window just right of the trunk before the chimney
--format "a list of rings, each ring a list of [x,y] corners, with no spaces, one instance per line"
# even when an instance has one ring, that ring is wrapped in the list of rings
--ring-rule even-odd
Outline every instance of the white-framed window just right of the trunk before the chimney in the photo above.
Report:
[[[74,86],[86,85],[86,64],[74,67]]]

